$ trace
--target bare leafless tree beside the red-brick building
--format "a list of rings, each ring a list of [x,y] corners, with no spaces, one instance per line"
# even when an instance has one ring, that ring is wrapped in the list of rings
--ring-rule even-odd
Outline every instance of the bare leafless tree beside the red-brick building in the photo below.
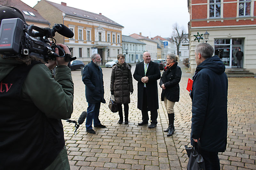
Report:
[[[182,38],[184,36],[185,29],[184,27],[180,27],[177,22],[172,25],[172,40],[175,42],[177,46],[177,54],[180,56],[180,43],[182,41]]]

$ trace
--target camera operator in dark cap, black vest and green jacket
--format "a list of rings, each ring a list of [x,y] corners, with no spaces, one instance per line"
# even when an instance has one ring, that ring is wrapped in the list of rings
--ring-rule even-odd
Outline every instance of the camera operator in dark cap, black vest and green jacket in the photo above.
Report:
[[[0,6],[0,21],[7,18],[26,23],[17,8]],[[74,84],[64,57],[46,65],[34,56],[0,55],[0,170],[70,169],[61,119],[73,112]]]

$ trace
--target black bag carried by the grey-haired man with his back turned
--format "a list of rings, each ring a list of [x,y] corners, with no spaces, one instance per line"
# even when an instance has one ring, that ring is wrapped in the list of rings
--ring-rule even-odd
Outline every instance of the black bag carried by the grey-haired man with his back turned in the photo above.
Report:
[[[194,147],[195,145],[197,145],[197,147]],[[199,140],[197,140],[197,142],[194,142],[194,146],[185,146],[189,158],[187,170],[205,170],[204,159],[199,153],[201,149],[201,144]]]

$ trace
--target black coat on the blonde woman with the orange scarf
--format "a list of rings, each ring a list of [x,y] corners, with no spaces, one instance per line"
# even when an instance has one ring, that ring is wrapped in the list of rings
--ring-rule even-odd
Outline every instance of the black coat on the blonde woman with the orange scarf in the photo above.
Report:
[[[161,100],[164,101],[164,96],[170,101],[180,100],[180,82],[181,79],[181,69],[178,63],[175,62],[172,67],[164,71],[159,85],[164,84],[165,89],[162,90]]]

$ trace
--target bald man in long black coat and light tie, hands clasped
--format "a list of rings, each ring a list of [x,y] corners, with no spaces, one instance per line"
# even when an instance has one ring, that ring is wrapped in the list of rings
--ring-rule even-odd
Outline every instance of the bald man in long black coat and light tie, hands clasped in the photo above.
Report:
[[[157,82],[161,77],[158,63],[151,62],[149,52],[143,53],[144,61],[137,63],[133,78],[138,81],[138,109],[142,112],[142,122],[148,124],[148,111],[151,114],[151,124],[148,128],[155,128],[157,124],[158,90]]]

